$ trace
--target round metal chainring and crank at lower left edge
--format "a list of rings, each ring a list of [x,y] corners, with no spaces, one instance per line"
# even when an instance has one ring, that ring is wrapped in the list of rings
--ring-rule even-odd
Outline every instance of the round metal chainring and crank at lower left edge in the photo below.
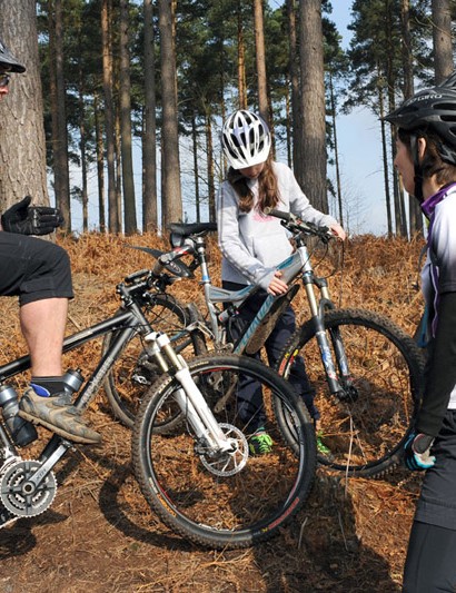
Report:
[[[57,482],[52,472],[38,485],[33,475],[41,468],[38,461],[19,461],[9,464],[0,475],[0,502],[10,513],[33,517],[47,511],[56,496]]]

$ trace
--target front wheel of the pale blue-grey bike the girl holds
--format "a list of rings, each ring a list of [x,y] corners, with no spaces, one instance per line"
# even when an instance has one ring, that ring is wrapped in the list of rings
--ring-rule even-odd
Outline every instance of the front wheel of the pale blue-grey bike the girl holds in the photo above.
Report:
[[[304,357],[321,414],[320,435],[329,449],[318,462],[351,475],[386,473],[402,458],[423,388],[423,358],[413,339],[391,322],[366,310],[330,310],[325,327],[339,380],[334,345],[340,337],[347,358],[349,397],[329,395],[314,324],[307,322],[290,338],[278,363],[288,377],[296,356]],[[286,431],[287,417],[277,408]],[[288,431],[293,438],[291,431]]]

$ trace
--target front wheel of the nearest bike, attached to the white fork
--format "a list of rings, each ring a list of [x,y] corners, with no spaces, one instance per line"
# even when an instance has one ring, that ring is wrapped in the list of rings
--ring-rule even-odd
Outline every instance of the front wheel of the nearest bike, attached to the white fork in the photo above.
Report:
[[[236,447],[210,454],[189,421],[174,434],[158,434],[157,418],[181,393],[178,380],[165,376],[143,397],[138,412],[132,437],[135,475],[150,507],[180,535],[212,548],[247,547],[272,536],[305,503],[316,466],[314,428],[287,383],[258,360],[211,355],[188,366]],[[239,375],[262,387],[266,428],[274,442],[268,455],[249,456],[251,431],[239,417],[236,397]],[[293,423],[297,438],[291,444],[276,422],[272,398],[280,399]]]

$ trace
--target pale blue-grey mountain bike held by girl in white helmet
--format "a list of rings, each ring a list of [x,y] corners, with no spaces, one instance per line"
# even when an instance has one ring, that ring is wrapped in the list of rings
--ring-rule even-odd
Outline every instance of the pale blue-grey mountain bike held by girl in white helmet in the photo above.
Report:
[[[310,315],[286,346],[278,372],[289,378],[297,357],[305,360],[321,413],[321,437],[330,451],[328,455],[318,455],[319,463],[351,475],[381,475],[400,462],[422,394],[423,355],[414,340],[386,317],[335,306],[327,279],[314,273],[307,247],[310,237],[324,245],[331,240],[326,227],[303,223],[287,213],[270,211],[269,215],[281,218],[296,244],[296,251],[278,266],[290,288],[286,295],[268,296],[234,345],[226,342],[227,329],[256,288],[248,286],[229,291],[212,286],[206,236],[215,230],[215,225],[171,225],[171,251],[145,250],[168,271],[171,271],[170,264],[179,264],[180,274],[187,278],[194,278],[195,270],[200,268],[208,314],[204,322],[199,319],[186,330],[190,335],[198,329],[206,336],[208,347],[216,352],[227,348],[242,354],[258,352],[278,316],[296,296],[300,283]],[[190,261],[184,264],[186,256]],[[224,305],[226,308],[221,308]],[[128,404],[119,403],[119,407],[123,405]],[[279,408],[276,414],[286,431],[286,415]],[[174,423],[178,418],[169,421]],[[291,432],[289,437],[293,439]]]

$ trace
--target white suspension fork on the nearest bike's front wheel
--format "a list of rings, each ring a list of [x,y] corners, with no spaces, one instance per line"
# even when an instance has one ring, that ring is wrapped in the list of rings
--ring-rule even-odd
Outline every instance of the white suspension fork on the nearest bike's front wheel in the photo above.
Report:
[[[152,332],[146,336],[150,343],[150,354],[155,356],[163,373],[177,378],[181,387],[176,389],[174,397],[192,427],[198,439],[205,439],[215,452],[232,449],[228,439],[216,421],[207,402],[196,385],[187,363],[175,352],[166,334]]]

